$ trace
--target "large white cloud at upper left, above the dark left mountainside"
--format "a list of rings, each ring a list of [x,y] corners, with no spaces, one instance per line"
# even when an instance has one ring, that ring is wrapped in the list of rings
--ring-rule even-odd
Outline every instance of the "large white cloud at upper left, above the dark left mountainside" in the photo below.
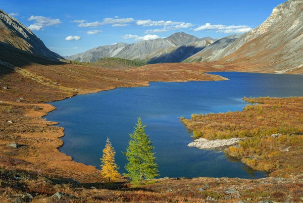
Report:
[[[34,21],[34,24],[28,26],[31,30],[44,30],[46,26],[53,26],[62,23],[59,19],[44,17],[44,16],[31,16],[27,20]]]

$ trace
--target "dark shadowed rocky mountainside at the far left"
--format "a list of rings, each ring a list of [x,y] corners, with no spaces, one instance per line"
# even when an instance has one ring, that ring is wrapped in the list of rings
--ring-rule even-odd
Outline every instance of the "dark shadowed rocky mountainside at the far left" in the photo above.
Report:
[[[49,50],[32,31],[2,10],[0,10],[0,42],[42,57],[62,59]]]

